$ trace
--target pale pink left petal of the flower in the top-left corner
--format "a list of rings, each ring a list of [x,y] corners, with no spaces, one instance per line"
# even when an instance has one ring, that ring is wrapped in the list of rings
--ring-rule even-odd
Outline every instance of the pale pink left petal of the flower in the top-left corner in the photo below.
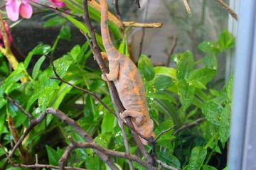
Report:
[[[11,21],[18,20],[18,8],[21,5],[21,1],[9,0],[6,2],[6,13]]]

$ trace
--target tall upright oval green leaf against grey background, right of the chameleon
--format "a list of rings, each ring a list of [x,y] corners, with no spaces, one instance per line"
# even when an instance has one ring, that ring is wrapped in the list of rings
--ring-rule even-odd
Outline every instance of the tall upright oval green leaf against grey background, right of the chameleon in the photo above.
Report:
[[[186,79],[194,67],[193,55],[190,51],[184,52],[177,63],[177,79]]]

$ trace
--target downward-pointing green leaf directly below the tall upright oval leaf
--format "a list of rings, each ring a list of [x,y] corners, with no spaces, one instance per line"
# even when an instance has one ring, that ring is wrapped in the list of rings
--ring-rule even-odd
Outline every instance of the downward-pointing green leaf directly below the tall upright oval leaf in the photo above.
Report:
[[[195,88],[192,84],[188,84],[186,80],[178,81],[178,97],[180,98],[183,110],[191,105],[195,95]]]

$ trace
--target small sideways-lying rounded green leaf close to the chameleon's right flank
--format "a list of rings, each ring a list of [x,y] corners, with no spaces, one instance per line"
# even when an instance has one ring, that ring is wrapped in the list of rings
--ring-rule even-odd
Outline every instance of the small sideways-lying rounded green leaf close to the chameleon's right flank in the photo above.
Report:
[[[171,77],[165,75],[157,75],[152,80],[152,85],[159,90],[167,89],[170,86],[174,85],[174,82],[171,80]]]

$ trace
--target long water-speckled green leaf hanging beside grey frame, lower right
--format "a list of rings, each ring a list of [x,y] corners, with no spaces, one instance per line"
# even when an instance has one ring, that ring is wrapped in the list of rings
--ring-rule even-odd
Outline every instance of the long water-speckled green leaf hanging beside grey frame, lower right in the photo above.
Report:
[[[220,142],[227,142],[230,137],[231,105],[228,103],[220,115]]]

